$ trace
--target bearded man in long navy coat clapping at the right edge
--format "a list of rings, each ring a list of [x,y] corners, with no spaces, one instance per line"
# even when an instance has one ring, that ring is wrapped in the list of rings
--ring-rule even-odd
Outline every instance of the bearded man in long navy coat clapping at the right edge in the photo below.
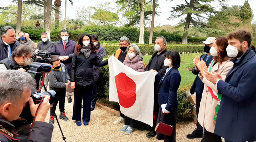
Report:
[[[214,133],[225,141],[255,141],[256,56],[250,48],[252,35],[247,30],[237,30],[227,37],[227,54],[235,59],[226,80],[214,71],[204,70],[205,78],[216,84],[222,94]]]

